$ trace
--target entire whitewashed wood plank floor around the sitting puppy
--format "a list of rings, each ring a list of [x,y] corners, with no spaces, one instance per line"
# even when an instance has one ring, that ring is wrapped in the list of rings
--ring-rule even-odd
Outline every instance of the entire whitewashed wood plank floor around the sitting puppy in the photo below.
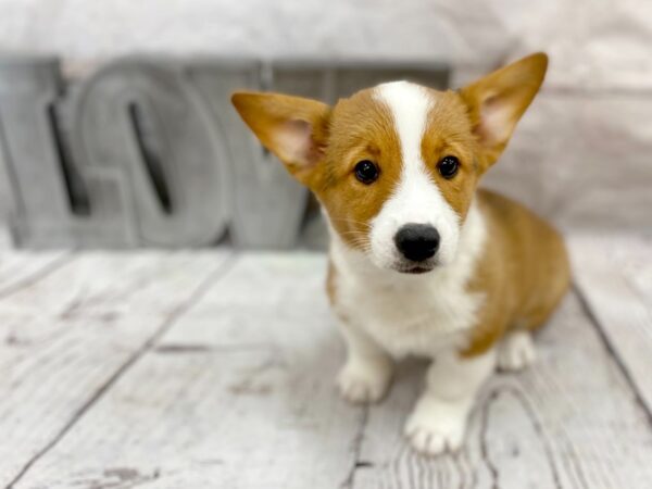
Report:
[[[574,236],[537,364],[497,375],[463,452],[401,438],[333,377],[321,254],[0,255],[0,488],[652,487],[652,238]]]

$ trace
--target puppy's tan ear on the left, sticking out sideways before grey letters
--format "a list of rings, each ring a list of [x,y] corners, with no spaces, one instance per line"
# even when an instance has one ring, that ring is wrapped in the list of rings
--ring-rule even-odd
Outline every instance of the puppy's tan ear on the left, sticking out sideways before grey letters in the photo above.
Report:
[[[279,93],[237,92],[231,102],[265,148],[308,185],[324,158],[330,108]]]

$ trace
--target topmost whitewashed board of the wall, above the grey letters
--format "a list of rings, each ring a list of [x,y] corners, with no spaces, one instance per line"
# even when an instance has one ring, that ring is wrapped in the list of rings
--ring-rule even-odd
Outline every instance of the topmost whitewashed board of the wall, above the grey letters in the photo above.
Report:
[[[0,0],[0,49],[376,57],[491,64],[546,49],[555,87],[650,88],[645,0]]]

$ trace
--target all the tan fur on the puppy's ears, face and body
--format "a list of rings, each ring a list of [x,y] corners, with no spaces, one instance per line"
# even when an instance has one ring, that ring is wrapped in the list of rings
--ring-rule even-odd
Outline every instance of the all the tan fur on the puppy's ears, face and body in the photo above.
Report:
[[[468,284],[469,292],[482,292],[486,301],[465,355],[485,352],[510,328],[539,327],[568,287],[568,261],[557,233],[515,202],[476,190],[537,93],[547,63],[547,57],[539,53],[460,92],[431,91],[437,103],[428,114],[423,161],[461,220],[477,195],[488,227],[486,249]],[[275,93],[236,93],[233,101],[261,142],[315,193],[341,238],[364,250],[369,222],[391,195],[402,164],[391,114],[373,91],[341,100],[333,110],[321,102]],[[302,133],[309,135],[305,145],[292,142]],[[461,163],[459,174],[450,180],[437,171],[446,155],[454,155]],[[361,160],[371,160],[380,168],[380,178],[371,186],[353,175]],[[330,266],[327,288],[331,300],[335,274]]]

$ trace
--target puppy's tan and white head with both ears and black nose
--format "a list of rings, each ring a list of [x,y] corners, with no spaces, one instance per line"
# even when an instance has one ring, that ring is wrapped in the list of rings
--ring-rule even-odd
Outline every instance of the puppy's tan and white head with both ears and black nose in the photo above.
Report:
[[[538,53],[453,91],[406,82],[322,102],[240,92],[233,103],[306,185],[331,227],[383,268],[423,273],[456,253],[478,178],[543,80]]]

